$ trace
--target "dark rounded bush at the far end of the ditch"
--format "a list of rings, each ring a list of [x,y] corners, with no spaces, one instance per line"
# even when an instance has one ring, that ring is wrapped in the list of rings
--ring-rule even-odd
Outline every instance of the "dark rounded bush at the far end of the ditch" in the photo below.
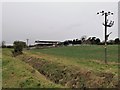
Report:
[[[14,45],[14,51],[12,51],[13,56],[22,54],[23,48],[26,47],[26,43],[22,41],[14,41],[13,45]]]

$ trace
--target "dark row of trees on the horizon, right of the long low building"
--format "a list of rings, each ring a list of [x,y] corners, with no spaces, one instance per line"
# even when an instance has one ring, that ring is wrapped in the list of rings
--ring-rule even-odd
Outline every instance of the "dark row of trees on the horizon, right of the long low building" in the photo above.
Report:
[[[114,45],[114,44],[119,44],[120,39],[115,38],[114,40],[109,40],[107,41],[108,45]],[[97,37],[89,37],[86,38],[86,36],[81,37],[81,39],[73,39],[73,40],[65,40],[64,42],[60,43],[61,45],[79,45],[79,44],[88,44],[88,45],[104,45],[105,42],[101,41]]]

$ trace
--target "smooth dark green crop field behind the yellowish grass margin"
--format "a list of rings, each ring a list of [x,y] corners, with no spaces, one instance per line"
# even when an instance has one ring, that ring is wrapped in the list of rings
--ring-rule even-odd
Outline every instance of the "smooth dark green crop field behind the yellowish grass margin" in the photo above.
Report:
[[[79,60],[100,60],[104,61],[104,46],[68,46],[48,49],[34,49],[32,52],[55,55],[59,57],[74,58]],[[111,45],[107,49],[108,61],[118,62],[118,46]]]

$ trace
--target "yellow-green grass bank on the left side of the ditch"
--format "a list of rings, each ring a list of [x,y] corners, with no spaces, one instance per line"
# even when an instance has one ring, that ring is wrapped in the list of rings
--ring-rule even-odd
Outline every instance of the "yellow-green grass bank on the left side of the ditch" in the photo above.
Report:
[[[29,64],[19,58],[11,57],[8,49],[3,49],[2,59],[2,87],[3,88],[60,88],[46,79]]]

